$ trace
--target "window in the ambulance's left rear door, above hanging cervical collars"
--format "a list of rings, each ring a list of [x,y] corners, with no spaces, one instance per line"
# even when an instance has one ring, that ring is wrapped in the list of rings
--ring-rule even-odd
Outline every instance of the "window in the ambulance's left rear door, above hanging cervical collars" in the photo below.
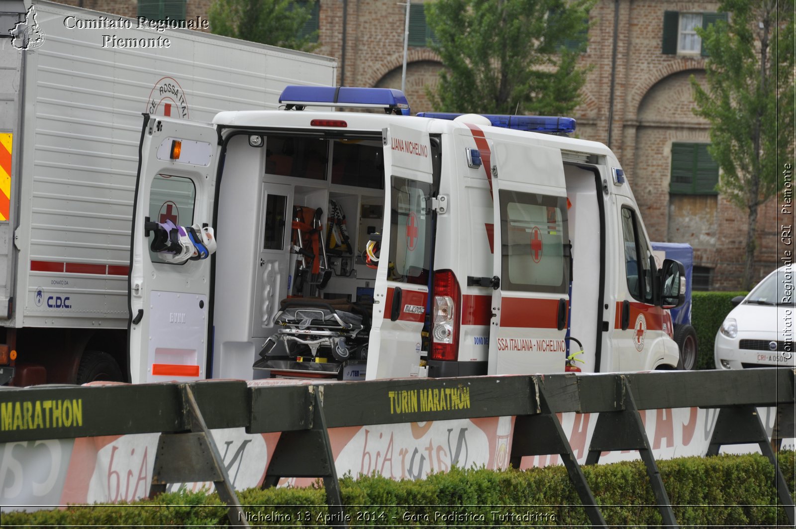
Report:
[[[152,180],[150,190],[150,220],[172,221],[178,226],[190,226],[193,224],[194,202],[196,202],[196,186],[193,185],[193,180],[181,176],[157,174]],[[153,262],[166,262],[158,257],[158,253],[151,249],[149,252]]]

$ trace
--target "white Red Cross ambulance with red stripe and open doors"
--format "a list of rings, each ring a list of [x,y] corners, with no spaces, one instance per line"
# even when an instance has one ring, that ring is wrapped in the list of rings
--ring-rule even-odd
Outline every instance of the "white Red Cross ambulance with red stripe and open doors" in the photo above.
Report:
[[[408,116],[379,88],[280,103],[145,116],[131,382],[677,368],[682,265],[657,269],[617,159],[574,120]],[[193,230],[158,222],[169,203]]]

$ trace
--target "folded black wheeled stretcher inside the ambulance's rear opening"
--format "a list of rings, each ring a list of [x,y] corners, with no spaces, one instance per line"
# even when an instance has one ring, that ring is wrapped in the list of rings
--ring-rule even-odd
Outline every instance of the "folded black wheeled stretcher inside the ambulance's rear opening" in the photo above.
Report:
[[[368,356],[370,304],[348,300],[288,298],[274,316],[277,331],[259,351],[255,369],[287,376],[342,378],[347,365]],[[279,343],[283,347],[276,347]]]

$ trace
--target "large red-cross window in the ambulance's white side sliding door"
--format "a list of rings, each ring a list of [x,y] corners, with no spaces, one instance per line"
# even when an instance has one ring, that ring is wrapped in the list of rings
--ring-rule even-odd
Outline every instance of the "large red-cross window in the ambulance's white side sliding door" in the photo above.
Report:
[[[501,190],[500,207],[501,284],[507,290],[567,293],[567,199]]]

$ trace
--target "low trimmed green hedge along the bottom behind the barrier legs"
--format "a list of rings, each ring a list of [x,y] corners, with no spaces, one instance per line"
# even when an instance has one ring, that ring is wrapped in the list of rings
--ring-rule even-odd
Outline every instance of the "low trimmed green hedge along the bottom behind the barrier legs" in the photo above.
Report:
[[[779,454],[791,494],[796,488],[794,456],[793,452]],[[784,509],[775,505],[774,468],[759,454],[687,457],[657,464],[681,527],[787,525]],[[641,461],[583,467],[583,473],[611,526],[661,524]],[[417,481],[346,476],[341,492],[350,526],[589,525],[563,466],[502,472],[453,468]],[[314,488],[252,488],[240,492],[239,499],[255,527],[326,527],[326,492],[318,484]],[[227,524],[218,496],[203,492],[171,492],[136,504],[4,512],[2,516],[3,527]]]

